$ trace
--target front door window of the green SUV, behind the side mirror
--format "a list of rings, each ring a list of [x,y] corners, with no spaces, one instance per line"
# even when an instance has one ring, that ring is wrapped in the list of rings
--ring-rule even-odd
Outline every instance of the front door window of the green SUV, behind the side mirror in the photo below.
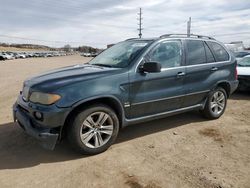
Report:
[[[149,53],[149,60],[161,64],[162,68],[178,67],[181,65],[181,42],[165,41],[158,44]]]

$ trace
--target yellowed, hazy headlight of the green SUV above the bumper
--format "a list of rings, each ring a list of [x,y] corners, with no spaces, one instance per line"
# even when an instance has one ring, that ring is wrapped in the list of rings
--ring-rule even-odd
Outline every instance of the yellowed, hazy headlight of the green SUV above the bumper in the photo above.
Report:
[[[49,93],[41,93],[41,92],[32,92],[29,100],[33,103],[40,104],[53,104],[61,98],[60,95],[57,94],[49,94]]]

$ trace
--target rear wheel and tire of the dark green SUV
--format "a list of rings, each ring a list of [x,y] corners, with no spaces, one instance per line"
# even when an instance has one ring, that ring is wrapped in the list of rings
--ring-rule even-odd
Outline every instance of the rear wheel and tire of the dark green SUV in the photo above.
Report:
[[[209,93],[201,112],[208,119],[218,119],[225,112],[226,106],[227,93],[223,88],[217,87]]]

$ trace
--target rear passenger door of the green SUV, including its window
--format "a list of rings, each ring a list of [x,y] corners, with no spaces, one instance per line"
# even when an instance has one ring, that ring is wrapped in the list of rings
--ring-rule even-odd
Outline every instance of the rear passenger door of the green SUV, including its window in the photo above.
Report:
[[[211,72],[217,71],[215,58],[201,40],[185,40],[186,77],[184,107],[202,103],[210,89]]]

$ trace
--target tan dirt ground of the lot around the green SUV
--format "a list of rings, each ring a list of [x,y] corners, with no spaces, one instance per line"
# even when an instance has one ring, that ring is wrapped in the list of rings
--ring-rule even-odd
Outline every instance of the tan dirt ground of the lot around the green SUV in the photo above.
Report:
[[[250,94],[234,94],[215,121],[191,112],[127,127],[96,156],[80,156],[66,142],[55,151],[38,146],[12,122],[23,80],[87,60],[0,62],[0,187],[250,187]]]

